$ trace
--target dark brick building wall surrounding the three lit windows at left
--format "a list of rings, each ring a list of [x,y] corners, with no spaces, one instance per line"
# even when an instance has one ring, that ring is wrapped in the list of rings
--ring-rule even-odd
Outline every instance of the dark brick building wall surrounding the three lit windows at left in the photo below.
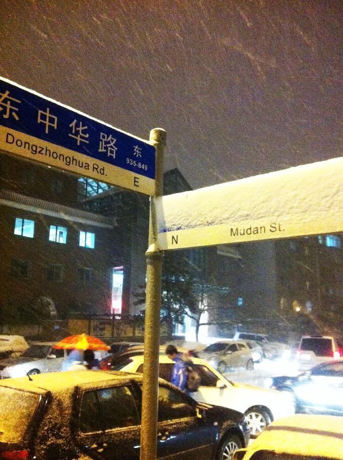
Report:
[[[35,221],[34,238],[14,235],[15,218]],[[66,244],[49,241],[50,225],[67,228]],[[80,231],[95,234],[94,249],[80,247]],[[113,230],[0,206],[0,300],[2,304],[32,303],[50,297],[61,317],[72,310],[109,313],[111,240]],[[11,269],[13,260],[28,261],[28,274]],[[52,281],[52,265],[62,265],[62,279]],[[85,268],[93,269],[88,280]]]

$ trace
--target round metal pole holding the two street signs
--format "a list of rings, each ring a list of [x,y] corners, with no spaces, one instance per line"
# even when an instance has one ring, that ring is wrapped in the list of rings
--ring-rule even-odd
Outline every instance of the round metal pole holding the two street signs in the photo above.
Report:
[[[152,129],[150,143],[156,150],[155,196],[163,194],[163,152],[166,133]],[[154,197],[150,198],[154,200]],[[161,278],[163,252],[156,244],[157,226],[154,206],[150,203],[149,247],[146,257],[146,300],[144,329],[143,399],[140,460],[155,460],[157,445],[158,355],[160,342]]]

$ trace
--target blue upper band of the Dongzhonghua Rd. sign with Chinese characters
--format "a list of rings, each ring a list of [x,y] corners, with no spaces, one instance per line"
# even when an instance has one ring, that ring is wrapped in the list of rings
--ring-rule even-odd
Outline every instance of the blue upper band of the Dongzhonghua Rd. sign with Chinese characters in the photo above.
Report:
[[[154,146],[2,77],[0,125],[155,179]]]

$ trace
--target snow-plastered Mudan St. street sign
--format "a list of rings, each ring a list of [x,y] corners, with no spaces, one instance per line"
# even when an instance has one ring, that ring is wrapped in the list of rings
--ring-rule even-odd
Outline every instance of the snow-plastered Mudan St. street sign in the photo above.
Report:
[[[160,250],[343,232],[343,157],[154,199]]]

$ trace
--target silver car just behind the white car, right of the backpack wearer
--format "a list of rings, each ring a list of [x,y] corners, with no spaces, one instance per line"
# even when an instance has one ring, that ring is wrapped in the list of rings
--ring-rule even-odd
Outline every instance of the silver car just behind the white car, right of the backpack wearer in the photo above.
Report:
[[[245,367],[251,371],[254,369],[254,361],[261,359],[261,354],[256,356],[256,352],[242,340],[219,340],[198,352],[198,356],[215,367],[220,374],[237,367]]]

